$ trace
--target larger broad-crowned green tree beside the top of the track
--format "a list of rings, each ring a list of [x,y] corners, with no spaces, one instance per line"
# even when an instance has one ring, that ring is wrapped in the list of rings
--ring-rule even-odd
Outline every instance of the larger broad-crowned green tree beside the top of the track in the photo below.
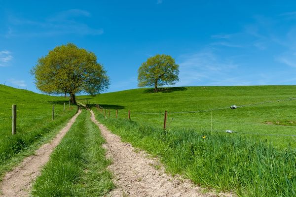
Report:
[[[72,43],[57,46],[39,58],[31,73],[37,89],[50,94],[70,94],[72,103],[76,103],[75,94],[98,94],[110,85],[96,55]]]

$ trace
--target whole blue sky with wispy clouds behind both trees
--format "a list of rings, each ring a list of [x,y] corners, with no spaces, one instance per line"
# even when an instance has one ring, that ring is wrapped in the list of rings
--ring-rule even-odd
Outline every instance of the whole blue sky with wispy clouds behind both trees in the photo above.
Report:
[[[295,85],[296,1],[0,0],[0,83],[37,92],[29,70],[57,45],[94,52],[108,92],[137,88],[155,54],[176,86]]]

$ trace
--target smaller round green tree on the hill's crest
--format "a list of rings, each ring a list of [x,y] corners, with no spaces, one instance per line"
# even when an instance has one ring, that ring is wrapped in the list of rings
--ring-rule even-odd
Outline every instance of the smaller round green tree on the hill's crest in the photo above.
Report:
[[[157,92],[157,86],[174,85],[179,81],[179,65],[169,55],[155,55],[148,58],[138,70],[138,86],[154,86],[154,92]]]

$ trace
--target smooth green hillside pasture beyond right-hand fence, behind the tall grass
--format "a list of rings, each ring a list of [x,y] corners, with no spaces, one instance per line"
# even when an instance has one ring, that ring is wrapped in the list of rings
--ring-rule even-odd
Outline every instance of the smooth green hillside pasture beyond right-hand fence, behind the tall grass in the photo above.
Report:
[[[118,117],[127,118],[130,109],[131,120],[155,128],[163,127],[167,110],[170,131],[231,130],[236,131],[231,135],[260,137],[279,148],[296,147],[296,137],[286,136],[296,134],[296,86],[176,87],[159,93],[141,88],[78,98],[111,109],[111,117],[119,109]],[[265,101],[272,102],[260,104]],[[230,109],[253,103],[258,104]],[[174,113],[191,111],[197,112]]]

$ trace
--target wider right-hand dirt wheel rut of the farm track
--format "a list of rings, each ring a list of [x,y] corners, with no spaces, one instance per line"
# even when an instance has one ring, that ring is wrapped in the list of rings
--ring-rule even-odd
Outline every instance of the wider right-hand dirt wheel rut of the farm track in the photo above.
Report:
[[[113,161],[109,167],[119,187],[111,192],[112,197],[232,197],[231,194],[202,193],[201,188],[189,180],[172,177],[163,167],[157,170],[155,166],[162,165],[156,159],[148,158],[144,151],[136,153],[129,143],[121,142],[120,137],[95,119],[92,111],[91,119],[106,139],[107,157]]]

